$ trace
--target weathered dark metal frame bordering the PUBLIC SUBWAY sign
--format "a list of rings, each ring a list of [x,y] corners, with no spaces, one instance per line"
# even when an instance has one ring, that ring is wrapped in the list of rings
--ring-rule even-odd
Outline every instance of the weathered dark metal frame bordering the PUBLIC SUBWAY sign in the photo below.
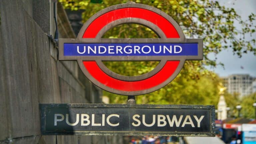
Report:
[[[179,132],[179,131],[165,131],[165,132],[148,132],[148,131],[58,131],[58,128],[54,128],[55,131],[47,131],[46,130],[46,119],[47,115],[49,115],[50,112],[52,112],[52,109],[56,108],[63,108],[67,109],[67,111],[71,111],[72,108],[75,109],[82,109],[83,112],[86,111],[86,108],[104,108],[104,109],[125,109],[125,111],[130,111],[130,109],[136,108],[136,109],[147,109],[147,111],[153,110],[153,109],[160,109],[162,110],[182,110],[182,109],[188,109],[188,110],[198,110],[198,113],[200,113],[200,110],[207,110],[207,113],[209,113],[209,125],[207,128],[209,129],[207,132]],[[210,105],[136,105],[136,104],[40,104],[40,111],[41,111],[41,132],[42,135],[172,135],[172,136],[209,136],[213,137],[215,136],[215,107]],[[152,113],[152,111],[150,111]]]

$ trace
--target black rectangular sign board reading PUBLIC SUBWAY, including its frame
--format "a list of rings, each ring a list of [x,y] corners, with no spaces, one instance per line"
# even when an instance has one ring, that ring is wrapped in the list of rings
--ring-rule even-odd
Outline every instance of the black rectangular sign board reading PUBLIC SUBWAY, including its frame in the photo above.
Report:
[[[215,136],[214,106],[40,104],[44,135]]]

